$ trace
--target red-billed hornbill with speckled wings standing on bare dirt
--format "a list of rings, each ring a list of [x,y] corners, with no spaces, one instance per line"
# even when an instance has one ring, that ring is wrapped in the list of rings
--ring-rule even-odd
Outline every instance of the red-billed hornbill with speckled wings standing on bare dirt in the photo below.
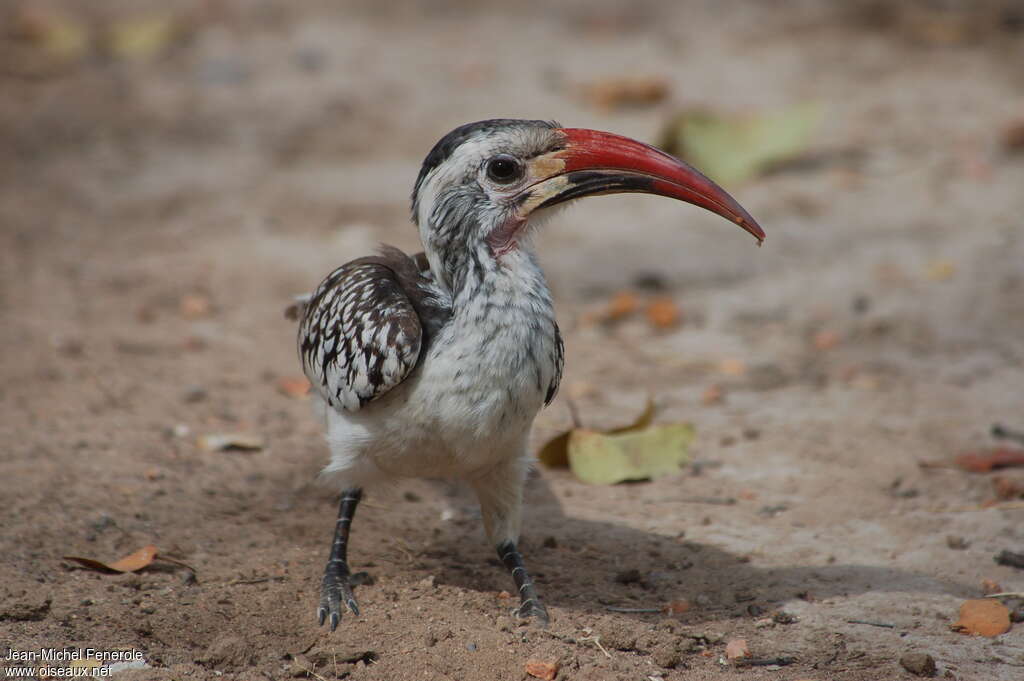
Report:
[[[518,542],[529,432],[558,391],[564,347],[534,236],[565,204],[620,193],[690,203],[765,239],[724,189],[653,146],[490,119],[427,154],[412,193],[422,253],[384,246],[298,299],[298,354],[330,450],[321,475],[341,491],[319,626],[359,614],[347,547],[364,490],[408,477],[468,482],[516,586],[513,613],[547,626]]]

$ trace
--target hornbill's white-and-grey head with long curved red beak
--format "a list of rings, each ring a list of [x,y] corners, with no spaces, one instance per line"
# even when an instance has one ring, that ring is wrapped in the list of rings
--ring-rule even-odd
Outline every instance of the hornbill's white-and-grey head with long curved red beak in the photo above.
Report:
[[[601,194],[685,201],[764,231],[722,187],[653,146],[546,121],[498,119],[460,126],[427,155],[413,189],[413,220],[434,274],[458,288],[470,266],[497,267],[545,209]]]

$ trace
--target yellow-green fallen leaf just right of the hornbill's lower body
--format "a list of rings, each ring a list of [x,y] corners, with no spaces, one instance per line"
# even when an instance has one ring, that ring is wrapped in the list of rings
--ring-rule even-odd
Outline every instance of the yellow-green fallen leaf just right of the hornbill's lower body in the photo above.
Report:
[[[645,480],[677,472],[689,461],[693,427],[678,423],[621,434],[577,429],[569,435],[572,473],[591,484]]]

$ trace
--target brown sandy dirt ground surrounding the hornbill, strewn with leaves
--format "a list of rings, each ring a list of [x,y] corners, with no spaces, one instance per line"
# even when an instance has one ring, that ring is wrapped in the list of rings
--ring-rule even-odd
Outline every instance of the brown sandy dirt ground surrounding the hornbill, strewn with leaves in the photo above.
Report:
[[[518,680],[536,658],[565,681],[853,681],[912,678],[907,652],[1024,678],[1024,624],[950,631],[983,581],[1024,591],[993,562],[1024,551],[1021,502],[919,465],[1024,428],[1024,155],[1005,140],[1024,10],[982,4],[0,5],[0,646],[140,651],[126,680]],[[173,35],[106,42],[154,17]],[[581,95],[624,75],[668,98]],[[569,399],[603,427],[651,394],[694,424],[698,462],[604,487],[538,472],[523,548],[551,627],[509,616],[472,498],[413,480],[370,491],[362,613],[318,628],[336,491],[280,389],[300,374],[291,297],[379,242],[418,249],[408,195],[458,124],[653,139],[681,108],[801,101],[825,112],[817,161],[730,187],[764,248],[650,197],[589,200],[540,238],[567,365],[535,444]],[[589,321],[651,288],[678,329]],[[264,445],[198,446],[223,432]],[[195,574],[63,559],[151,544]],[[728,662],[732,639],[777,666]]]

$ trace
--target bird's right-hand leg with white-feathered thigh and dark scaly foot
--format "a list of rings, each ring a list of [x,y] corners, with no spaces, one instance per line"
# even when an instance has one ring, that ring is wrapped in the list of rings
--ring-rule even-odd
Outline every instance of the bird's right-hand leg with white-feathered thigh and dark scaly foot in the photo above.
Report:
[[[528,464],[524,459],[499,464],[483,477],[472,481],[476,496],[480,500],[483,528],[494,542],[498,556],[512,573],[519,593],[519,607],[516,616],[537,618],[541,626],[549,622],[548,610],[537,595],[534,580],[530,579],[522,562],[522,554],[516,547],[519,540],[519,516],[522,509],[522,487]]]

